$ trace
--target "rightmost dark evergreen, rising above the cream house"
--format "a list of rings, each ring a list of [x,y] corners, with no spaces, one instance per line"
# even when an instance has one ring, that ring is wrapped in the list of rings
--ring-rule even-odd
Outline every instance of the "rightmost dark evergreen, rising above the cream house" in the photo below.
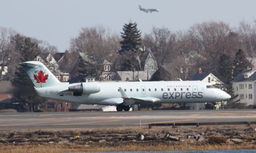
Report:
[[[233,78],[237,77],[242,71],[248,69],[249,61],[246,59],[242,49],[238,49],[236,52],[233,67]]]

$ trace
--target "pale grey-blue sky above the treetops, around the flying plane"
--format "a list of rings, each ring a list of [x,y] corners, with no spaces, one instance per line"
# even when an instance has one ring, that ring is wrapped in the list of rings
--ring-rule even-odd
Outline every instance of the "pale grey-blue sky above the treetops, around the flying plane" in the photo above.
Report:
[[[145,13],[138,5],[160,12]],[[153,26],[178,31],[208,21],[238,27],[241,20],[256,20],[255,6],[256,0],[0,0],[0,26],[64,52],[82,27],[102,25],[120,33],[132,21],[142,35]]]

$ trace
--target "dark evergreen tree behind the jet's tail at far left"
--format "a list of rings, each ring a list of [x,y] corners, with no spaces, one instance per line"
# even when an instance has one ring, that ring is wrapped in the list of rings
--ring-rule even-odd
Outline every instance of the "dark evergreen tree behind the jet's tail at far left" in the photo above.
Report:
[[[33,61],[38,51],[38,44],[32,42],[29,37],[23,37],[15,35],[12,38],[12,43],[15,43],[15,49],[17,49],[21,55],[21,62]],[[21,66],[16,67],[14,77],[11,79],[13,86],[15,87],[12,91],[13,98],[12,102],[28,104],[32,110],[46,99],[38,96],[34,90],[34,84],[28,77],[25,69]]]

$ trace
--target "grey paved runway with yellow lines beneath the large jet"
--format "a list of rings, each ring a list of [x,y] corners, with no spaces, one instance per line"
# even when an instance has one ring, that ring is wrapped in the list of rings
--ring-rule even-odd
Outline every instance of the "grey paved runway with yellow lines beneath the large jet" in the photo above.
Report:
[[[1,113],[0,130],[148,126],[150,123],[256,122],[256,110]]]

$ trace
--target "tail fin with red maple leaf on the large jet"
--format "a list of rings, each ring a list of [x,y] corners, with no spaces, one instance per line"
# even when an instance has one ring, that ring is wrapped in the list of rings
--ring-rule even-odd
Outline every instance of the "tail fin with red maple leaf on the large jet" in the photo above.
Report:
[[[22,62],[21,65],[25,68],[26,73],[36,88],[61,84],[61,82],[41,62],[27,61]]]

